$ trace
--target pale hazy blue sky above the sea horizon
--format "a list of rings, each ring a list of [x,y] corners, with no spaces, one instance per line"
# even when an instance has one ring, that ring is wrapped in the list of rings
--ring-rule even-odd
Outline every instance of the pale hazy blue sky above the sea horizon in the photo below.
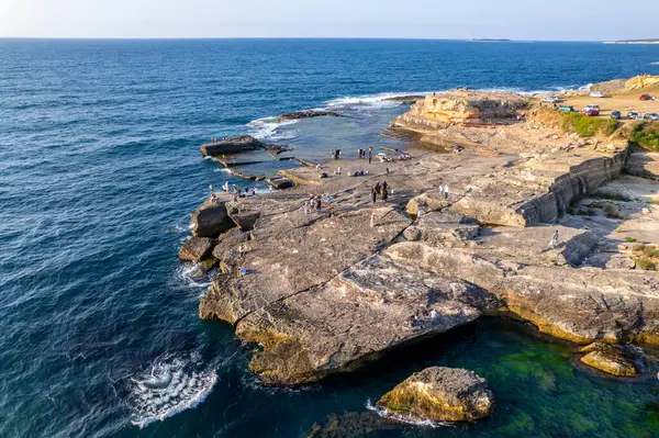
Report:
[[[0,37],[659,37],[659,0],[0,0]]]

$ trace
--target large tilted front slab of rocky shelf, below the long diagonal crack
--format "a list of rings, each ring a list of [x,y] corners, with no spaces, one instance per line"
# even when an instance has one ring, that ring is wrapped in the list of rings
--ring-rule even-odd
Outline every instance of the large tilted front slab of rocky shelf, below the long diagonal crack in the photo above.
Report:
[[[375,256],[249,314],[236,333],[264,346],[249,363],[261,379],[300,384],[469,323],[488,304],[472,284]]]

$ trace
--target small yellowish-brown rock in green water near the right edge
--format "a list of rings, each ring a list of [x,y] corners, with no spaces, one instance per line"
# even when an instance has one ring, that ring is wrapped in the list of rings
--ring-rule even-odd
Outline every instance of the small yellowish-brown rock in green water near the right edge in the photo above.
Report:
[[[593,342],[581,349],[585,356],[581,362],[618,378],[634,378],[638,374],[634,361],[641,359],[637,351],[628,346],[612,346]]]

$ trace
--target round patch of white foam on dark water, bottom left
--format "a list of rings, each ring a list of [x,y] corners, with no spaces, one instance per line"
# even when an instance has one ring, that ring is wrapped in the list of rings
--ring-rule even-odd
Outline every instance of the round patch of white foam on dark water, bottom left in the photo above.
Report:
[[[211,393],[217,374],[199,370],[201,356],[165,355],[131,379],[131,423],[143,428],[157,420],[194,408]]]

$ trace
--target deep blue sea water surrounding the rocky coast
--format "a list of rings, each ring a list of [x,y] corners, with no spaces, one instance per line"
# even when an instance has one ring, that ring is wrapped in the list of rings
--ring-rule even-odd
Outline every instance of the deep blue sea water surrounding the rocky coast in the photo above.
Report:
[[[429,364],[487,378],[495,415],[369,436],[659,436],[656,380],[606,379],[500,321],[311,388],[264,386],[252,347],[199,319],[209,282],[177,259],[189,213],[227,178],[199,154],[211,136],[320,159],[395,144],[379,136],[406,110],[392,93],[558,90],[657,61],[659,46],[595,43],[0,40],[0,436],[366,436],[350,414]],[[349,117],[268,119],[313,108]]]

